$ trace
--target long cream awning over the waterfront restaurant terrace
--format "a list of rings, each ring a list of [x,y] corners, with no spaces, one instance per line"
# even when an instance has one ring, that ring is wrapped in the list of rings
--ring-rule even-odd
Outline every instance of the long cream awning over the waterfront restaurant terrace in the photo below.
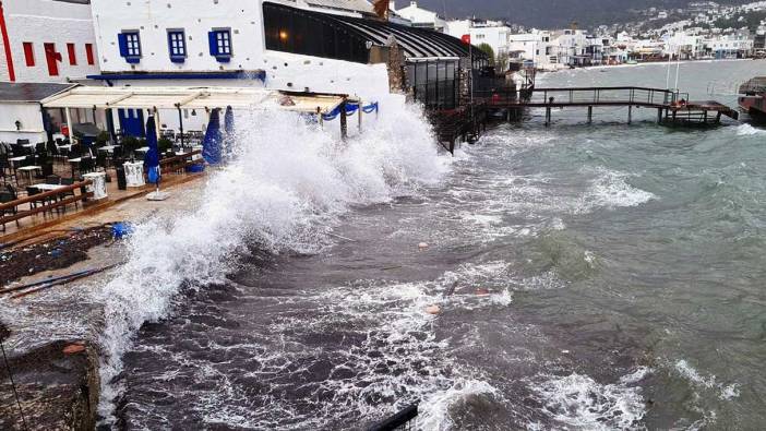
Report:
[[[285,103],[285,97],[289,97]],[[322,113],[332,112],[344,95],[285,95],[262,88],[237,87],[95,87],[79,86],[44,99],[45,108],[85,109],[214,109],[228,106],[252,109],[275,105],[279,109]]]

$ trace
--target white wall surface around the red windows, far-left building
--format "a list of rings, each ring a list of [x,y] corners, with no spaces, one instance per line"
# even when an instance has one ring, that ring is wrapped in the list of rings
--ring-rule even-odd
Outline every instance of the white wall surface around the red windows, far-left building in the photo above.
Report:
[[[94,56],[98,56],[88,4],[53,0],[5,0],[2,4],[16,82],[67,82],[68,79],[82,79],[98,73],[98,62],[88,65],[85,56],[86,43],[94,45]],[[34,44],[34,67],[26,65],[25,41]],[[48,74],[43,47],[45,43],[55,44],[56,51],[61,53],[58,76]],[[68,43],[74,44],[76,65],[69,63]],[[3,58],[0,61],[0,79],[9,77],[8,64]]]

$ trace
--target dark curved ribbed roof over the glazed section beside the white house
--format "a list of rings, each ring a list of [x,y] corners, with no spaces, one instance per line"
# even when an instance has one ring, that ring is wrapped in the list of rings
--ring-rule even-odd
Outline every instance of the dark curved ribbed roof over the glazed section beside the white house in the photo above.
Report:
[[[290,8],[280,3],[264,2],[265,8],[275,8],[301,14],[325,25],[342,27],[349,34],[373,45],[387,46],[394,37],[408,59],[468,57],[469,47],[460,39],[428,28],[411,27],[387,21],[357,16],[334,15],[304,9]],[[474,49],[475,58],[487,58],[480,49]]]

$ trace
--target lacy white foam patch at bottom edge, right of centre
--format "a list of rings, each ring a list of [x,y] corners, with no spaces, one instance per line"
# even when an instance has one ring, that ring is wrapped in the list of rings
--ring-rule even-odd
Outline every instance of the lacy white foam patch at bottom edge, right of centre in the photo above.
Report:
[[[641,387],[650,372],[639,368],[614,384],[601,384],[588,375],[548,376],[532,386],[543,412],[564,427],[584,430],[639,429],[646,415]],[[530,428],[536,428],[531,423]]]

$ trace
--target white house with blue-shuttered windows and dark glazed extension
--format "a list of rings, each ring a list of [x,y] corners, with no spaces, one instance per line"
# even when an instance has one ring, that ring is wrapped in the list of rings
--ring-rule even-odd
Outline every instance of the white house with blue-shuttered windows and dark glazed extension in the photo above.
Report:
[[[390,92],[382,57],[394,39],[407,60],[457,63],[467,53],[441,33],[360,21],[372,14],[364,0],[92,1],[101,72],[91,77],[110,86],[265,87],[373,100]],[[141,134],[143,112],[117,115],[123,132]],[[188,128],[204,125],[194,110],[160,118],[175,129],[179,116]]]

